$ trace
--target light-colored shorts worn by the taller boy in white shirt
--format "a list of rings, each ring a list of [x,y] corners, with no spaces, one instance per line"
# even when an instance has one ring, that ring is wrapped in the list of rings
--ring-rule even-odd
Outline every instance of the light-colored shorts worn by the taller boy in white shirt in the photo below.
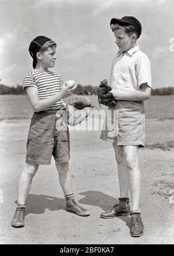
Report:
[[[100,138],[116,145],[145,143],[145,113],[143,101],[117,101],[107,109]]]

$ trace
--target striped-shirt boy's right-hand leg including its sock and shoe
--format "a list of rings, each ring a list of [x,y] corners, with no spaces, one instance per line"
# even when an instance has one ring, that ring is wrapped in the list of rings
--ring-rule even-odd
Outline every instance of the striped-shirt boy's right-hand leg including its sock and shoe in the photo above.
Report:
[[[59,163],[55,161],[55,164],[59,172],[60,186],[66,198],[66,211],[72,212],[73,214],[77,214],[79,216],[89,216],[89,212],[86,209],[82,208],[80,205],[78,205],[77,202],[74,200],[74,193],[71,184],[71,173],[68,162]]]

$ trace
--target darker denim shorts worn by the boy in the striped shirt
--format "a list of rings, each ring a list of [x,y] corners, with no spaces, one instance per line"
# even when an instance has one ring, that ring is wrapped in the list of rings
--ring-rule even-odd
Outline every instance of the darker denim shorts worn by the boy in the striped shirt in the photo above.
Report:
[[[70,134],[65,109],[34,112],[27,138],[26,162],[50,165],[51,158],[70,160]]]

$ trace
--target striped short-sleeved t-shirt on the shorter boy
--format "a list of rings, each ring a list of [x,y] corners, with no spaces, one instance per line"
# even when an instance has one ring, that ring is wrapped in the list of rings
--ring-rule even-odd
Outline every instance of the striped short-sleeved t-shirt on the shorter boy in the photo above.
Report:
[[[49,98],[56,93],[59,93],[61,90],[61,79],[60,74],[56,72],[38,72],[31,71],[26,74],[23,81],[23,88],[26,90],[27,86],[38,88],[39,98],[46,99]],[[46,108],[48,109],[62,109],[66,104],[63,99],[57,101],[55,104]]]

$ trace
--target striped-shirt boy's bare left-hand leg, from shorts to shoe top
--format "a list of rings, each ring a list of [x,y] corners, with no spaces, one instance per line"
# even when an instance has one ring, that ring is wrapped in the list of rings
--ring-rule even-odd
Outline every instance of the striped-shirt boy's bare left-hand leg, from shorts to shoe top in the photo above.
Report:
[[[17,204],[26,204],[26,199],[31,189],[32,178],[37,173],[38,167],[39,165],[34,165],[31,163],[26,163],[24,166],[23,172],[21,173],[19,179]]]

